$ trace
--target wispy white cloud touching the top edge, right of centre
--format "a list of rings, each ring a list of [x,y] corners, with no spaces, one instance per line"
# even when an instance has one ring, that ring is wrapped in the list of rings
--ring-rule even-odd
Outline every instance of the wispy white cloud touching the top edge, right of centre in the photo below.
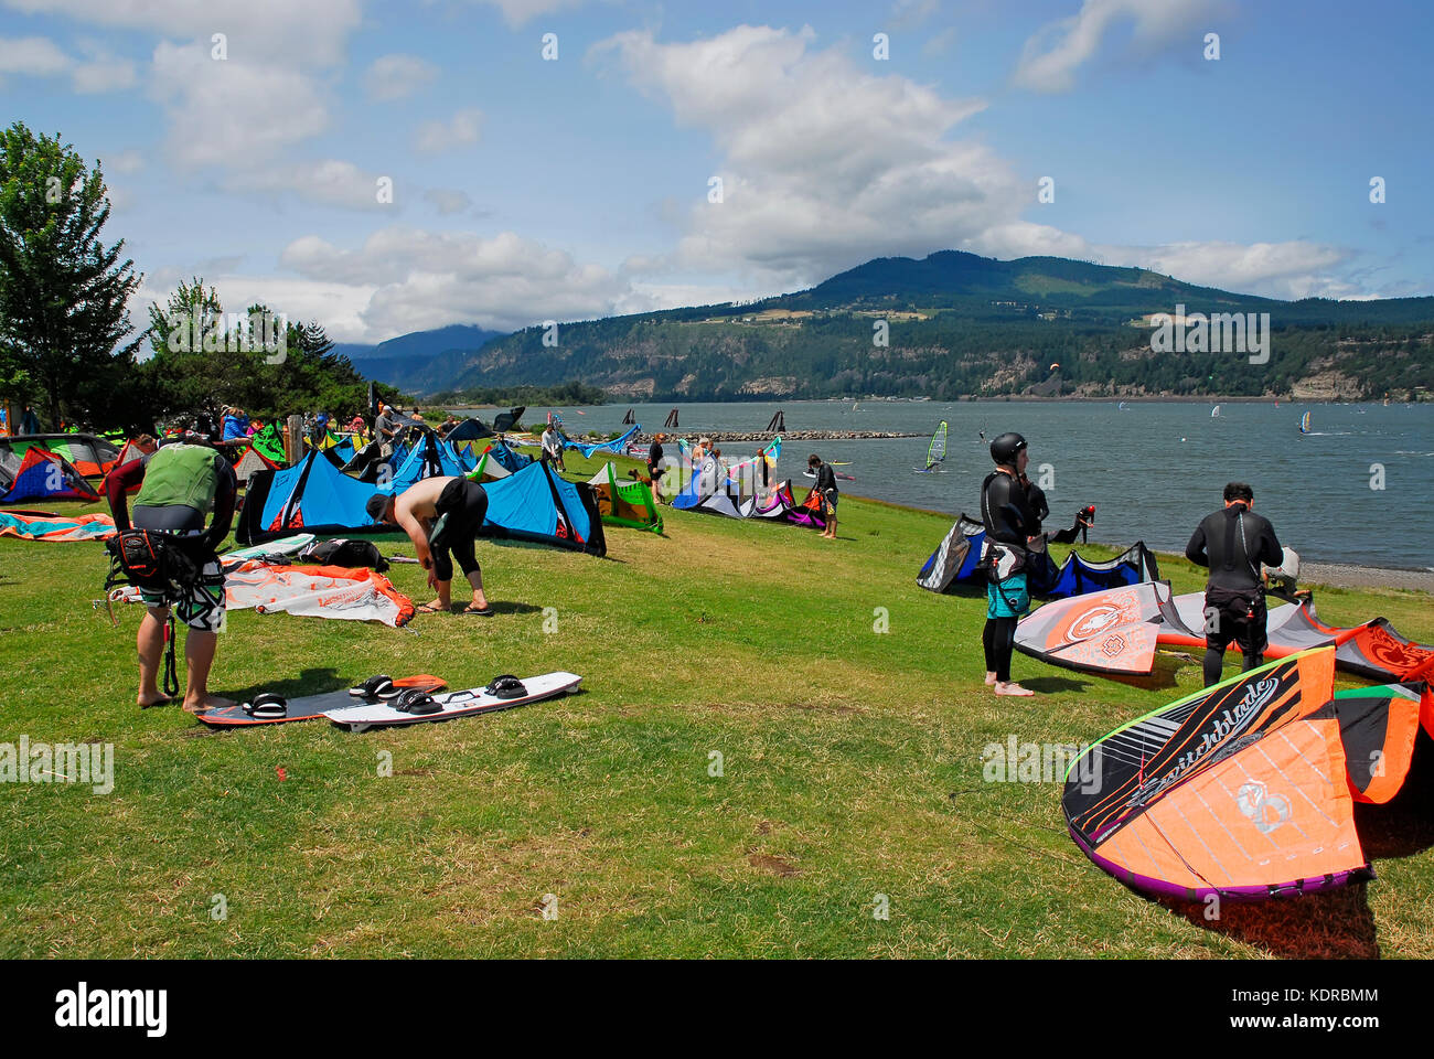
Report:
[[[1077,14],[1043,26],[1025,42],[1015,83],[1035,92],[1068,92],[1076,70],[1096,57],[1113,26],[1131,23],[1133,46],[1146,55],[1187,36],[1192,53],[1202,40],[1202,19],[1223,7],[1217,0],[1086,0]]]

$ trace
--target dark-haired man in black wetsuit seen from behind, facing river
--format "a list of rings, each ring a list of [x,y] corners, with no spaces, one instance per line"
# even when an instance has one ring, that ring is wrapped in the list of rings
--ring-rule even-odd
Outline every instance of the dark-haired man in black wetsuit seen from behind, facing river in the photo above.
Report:
[[[1209,567],[1205,585],[1205,686],[1220,682],[1225,649],[1233,640],[1245,654],[1243,672],[1265,663],[1265,585],[1260,564],[1278,567],[1285,550],[1275,527],[1255,514],[1255,491],[1245,482],[1225,486],[1225,507],[1196,527],[1184,557]]]

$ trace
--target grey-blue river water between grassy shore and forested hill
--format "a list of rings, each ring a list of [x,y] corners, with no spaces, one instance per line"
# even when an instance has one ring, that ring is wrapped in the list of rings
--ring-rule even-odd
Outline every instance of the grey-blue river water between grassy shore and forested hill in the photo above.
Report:
[[[922,438],[792,442],[779,478],[802,476],[810,452],[856,481],[843,494],[873,496],[955,515],[979,508],[991,469],[987,442],[1017,430],[1030,442],[1032,479],[1044,478],[1051,528],[1096,504],[1093,540],[1144,540],[1183,551],[1202,517],[1220,507],[1228,481],[1249,482],[1255,509],[1281,542],[1316,563],[1427,570],[1434,567],[1434,406],[1215,402],[911,402],[784,400],[677,405],[680,433],[759,432],[779,409],[787,430],[892,430]],[[559,412],[569,433],[622,430],[634,408],[644,432],[664,430],[671,403],[579,406]],[[549,409],[529,409],[541,423]],[[1299,432],[1304,412],[1311,433]],[[479,412],[490,420],[492,412]],[[919,474],[926,436],[949,423],[939,474]],[[665,430],[674,433],[673,430]],[[721,445],[747,456],[759,443]],[[803,495],[797,491],[797,495]],[[935,547],[932,541],[932,547]]]

